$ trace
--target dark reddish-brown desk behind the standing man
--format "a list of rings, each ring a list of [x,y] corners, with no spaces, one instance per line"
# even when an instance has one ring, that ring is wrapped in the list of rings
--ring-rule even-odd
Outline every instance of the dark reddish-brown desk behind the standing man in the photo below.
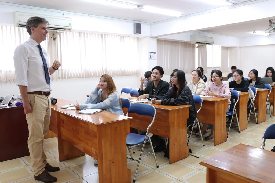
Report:
[[[1,107],[0,117],[0,162],[29,156],[29,129],[23,106]]]

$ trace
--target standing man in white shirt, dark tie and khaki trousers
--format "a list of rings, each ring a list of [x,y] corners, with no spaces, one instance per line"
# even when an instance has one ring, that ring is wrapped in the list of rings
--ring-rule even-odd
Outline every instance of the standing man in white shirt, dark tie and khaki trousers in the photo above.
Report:
[[[28,122],[28,146],[34,178],[42,182],[56,182],[57,178],[48,172],[58,171],[59,167],[52,167],[46,161],[43,149],[44,135],[50,126],[50,75],[61,66],[58,61],[50,66],[47,53],[40,46],[47,38],[48,24],[44,18],[35,16],[28,19],[26,28],[31,38],[15,49],[13,60],[15,81],[20,89]]]

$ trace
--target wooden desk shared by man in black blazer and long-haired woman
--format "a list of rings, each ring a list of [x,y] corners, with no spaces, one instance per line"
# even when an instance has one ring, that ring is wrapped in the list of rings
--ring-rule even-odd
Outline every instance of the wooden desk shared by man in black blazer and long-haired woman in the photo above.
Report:
[[[132,102],[135,103],[135,102]],[[175,163],[189,156],[189,148],[186,142],[186,126],[189,118],[190,105],[164,106],[153,105],[156,108],[156,118],[150,127],[149,133],[169,138],[169,163]],[[152,122],[152,117],[140,116],[134,113],[129,114],[131,127],[146,131]]]

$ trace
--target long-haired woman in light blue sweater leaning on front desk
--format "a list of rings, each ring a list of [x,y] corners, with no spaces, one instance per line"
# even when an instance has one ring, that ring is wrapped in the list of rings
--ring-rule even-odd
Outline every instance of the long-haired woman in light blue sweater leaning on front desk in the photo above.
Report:
[[[76,105],[75,108],[78,110],[103,109],[111,113],[124,115],[121,106],[119,93],[116,91],[116,85],[112,77],[108,74],[103,74],[99,84],[91,92],[85,104]]]

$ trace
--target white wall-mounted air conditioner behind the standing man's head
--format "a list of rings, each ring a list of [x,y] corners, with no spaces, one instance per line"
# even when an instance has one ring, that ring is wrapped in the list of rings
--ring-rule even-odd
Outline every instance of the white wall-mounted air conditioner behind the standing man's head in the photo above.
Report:
[[[48,30],[55,31],[71,31],[71,18],[39,15],[34,13],[13,12],[13,20],[15,27],[26,27],[27,20],[32,16],[45,18],[49,22]]]

